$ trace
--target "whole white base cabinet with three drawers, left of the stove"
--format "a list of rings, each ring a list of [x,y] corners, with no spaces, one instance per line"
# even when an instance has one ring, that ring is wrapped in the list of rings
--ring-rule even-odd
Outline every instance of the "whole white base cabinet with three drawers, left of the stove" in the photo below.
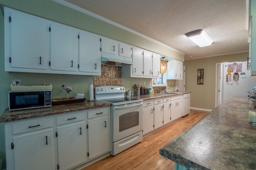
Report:
[[[72,169],[110,152],[110,107],[5,122],[5,145],[7,170]]]

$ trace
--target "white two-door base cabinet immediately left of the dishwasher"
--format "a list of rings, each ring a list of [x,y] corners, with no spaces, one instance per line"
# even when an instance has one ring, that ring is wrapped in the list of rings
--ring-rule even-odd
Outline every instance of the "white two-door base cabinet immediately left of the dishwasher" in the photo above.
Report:
[[[183,98],[182,95],[171,97],[171,121],[174,121],[182,117],[182,111],[183,111],[182,98]]]

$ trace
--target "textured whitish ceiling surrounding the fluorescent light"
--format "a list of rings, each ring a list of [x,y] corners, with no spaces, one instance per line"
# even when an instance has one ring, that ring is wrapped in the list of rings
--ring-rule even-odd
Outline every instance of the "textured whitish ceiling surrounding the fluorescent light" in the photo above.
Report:
[[[65,1],[168,45],[185,59],[249,50],[246,0]],[[200,28],[211,46],[200,48],[184,35]]]

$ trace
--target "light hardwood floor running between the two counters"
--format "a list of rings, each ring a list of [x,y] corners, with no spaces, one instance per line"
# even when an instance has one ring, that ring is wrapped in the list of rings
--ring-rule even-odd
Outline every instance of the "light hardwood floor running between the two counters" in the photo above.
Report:
[[[191,109],[189,115],[145,137],[137,145],[82,170],[174,170],[174,162],[161,156],[159,150],[208,113]]]

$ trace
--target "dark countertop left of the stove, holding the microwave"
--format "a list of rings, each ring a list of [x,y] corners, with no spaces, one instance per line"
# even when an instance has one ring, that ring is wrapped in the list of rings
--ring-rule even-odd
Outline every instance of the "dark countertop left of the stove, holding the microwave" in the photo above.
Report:
[[[9,108],[6,108],[4,113],[0,116],[0,123],[7,122],[7,121],[20,120],[20,119],[28,119],[32,117],[56,115],[56,114],[66,113],[71,111],[94,109],[94,108],[105,107],[105,106],[111,106],[111,104],[96,100],[92,102],[85,101],[82,103],[64,104],[64,105],[44,107],[39,109],[26,109],[26,110],[18,110],[18,111],[9,111]]]

